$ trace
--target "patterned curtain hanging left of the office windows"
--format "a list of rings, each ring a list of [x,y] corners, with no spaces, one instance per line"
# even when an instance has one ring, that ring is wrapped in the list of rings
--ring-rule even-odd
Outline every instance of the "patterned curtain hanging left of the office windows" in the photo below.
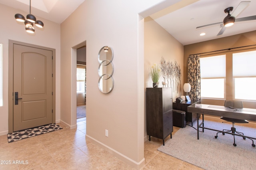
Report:
[[[191,85],[190,99],[201,99],[201,75],[200,75],[200,55],[189,55],[188,57],[188,83]]]

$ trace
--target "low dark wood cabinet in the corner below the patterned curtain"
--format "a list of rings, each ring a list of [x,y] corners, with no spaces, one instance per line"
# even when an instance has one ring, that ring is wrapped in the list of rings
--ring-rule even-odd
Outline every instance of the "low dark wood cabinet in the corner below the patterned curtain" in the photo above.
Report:
[[[188,106],[193,105],[195,103],[199,103],[200,101],[183,101],[181,103],[173,102],[173,109],[185,111],[186,112],[186,122],[191,122],[193,126],[193,122],[196,121],[196,113],[188,112]]]

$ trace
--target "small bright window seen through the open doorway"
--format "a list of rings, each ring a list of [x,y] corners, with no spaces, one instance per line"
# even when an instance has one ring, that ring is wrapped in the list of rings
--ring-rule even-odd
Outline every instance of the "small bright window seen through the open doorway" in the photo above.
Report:
[[[78,65],[76,67],[76,93],[85,93],[86,67]]]

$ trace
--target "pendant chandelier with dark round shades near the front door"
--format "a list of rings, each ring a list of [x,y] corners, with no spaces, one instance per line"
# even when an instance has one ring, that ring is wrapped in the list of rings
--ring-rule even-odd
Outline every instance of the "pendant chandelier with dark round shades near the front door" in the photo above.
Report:
[[[43,28],[44,23],[40,20],[36,20],[36,17],[30,14],[30,10],[31,10],[31,0],[29,1],[29,14],[27,15],[27,19],[25,19],[25,17],[22,14],[15,14],[15,19],[19,22],[24,22],[26,26],[25,27],[26,32],[34,33],[35,32],[35,28],[33,27],[34,24],[39,28]]]

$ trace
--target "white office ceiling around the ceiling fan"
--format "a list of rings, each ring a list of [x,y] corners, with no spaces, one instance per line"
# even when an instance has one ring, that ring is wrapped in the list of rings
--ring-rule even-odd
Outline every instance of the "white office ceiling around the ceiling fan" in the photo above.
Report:
[[[227,16],[224,9],[232,6],[235,10],[241,0],[194,1],[196,2],[170,13],[164,12],[164,14],[161,14],[158,12],[158,14],[153,14],[151,18],[183,45],[256,30],[256,20],[235,22],[233,26],[227,27],[224,33],[220,36],[217,36],[218,32],[221,30],[220,24],[196,29],[198,26],[223,22],[223,19]],[[247,6],[236,18],[256,15],[256,0],[250,1],[249,6]],[[206,33],[206,35],[200,36],[199,34],[202,32]]]

